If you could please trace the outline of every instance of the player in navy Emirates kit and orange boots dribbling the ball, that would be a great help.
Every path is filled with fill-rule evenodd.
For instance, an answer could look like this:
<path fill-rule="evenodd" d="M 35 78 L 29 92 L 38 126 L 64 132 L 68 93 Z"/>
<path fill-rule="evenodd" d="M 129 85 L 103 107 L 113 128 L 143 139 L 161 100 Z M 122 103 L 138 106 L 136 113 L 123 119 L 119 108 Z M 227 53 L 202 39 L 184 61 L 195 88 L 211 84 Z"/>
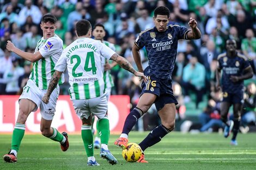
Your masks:
<path fill-rule="evenodd" d="M 169 25 L 170 11 L 166 7 L 157 7 L 154 11 L 155 27 L 141 32 L 132 47 L 133 58 L 139 72 L 147 75 L 147 83 L 142 84 L 142 95 L 135 109 L 126 117 L 122 134 L 114 142 L 121 148 L 126 148 L 128 134 L 137 119 L 148 111 L 150 106 L 155 103 L 158 114 L 161 118 L 161 125 L 153 129 L 144 140 L 139 143 L 144 151 L 150 146 L 161 141 L 161 138 L 170 133 L 175 125 L 175 105 L 178 104 L 172 90 L 172 72 L 174 69 L 176 52 L 179 39 L 199 39 L 200 30 L 197 22 L 190 18 L 188 25 L 192 30 L 178 25 Z M 149 66 L 143 70 L 139 49 L 145 46 Z M 138 162 L 147 162 L 144 154 Z"/>

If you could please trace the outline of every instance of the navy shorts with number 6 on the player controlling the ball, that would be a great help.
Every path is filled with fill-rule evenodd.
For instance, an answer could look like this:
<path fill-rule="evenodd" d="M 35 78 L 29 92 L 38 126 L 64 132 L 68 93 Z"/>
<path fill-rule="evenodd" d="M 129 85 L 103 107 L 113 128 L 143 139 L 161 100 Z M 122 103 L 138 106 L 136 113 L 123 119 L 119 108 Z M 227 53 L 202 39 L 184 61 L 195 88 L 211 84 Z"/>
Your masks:
<path fill-rule="evenodd" d="M 155 77 L 148 77 L 147 83 L 142 83 L 142 93 L 151 93 L 157 96 L 155 105 L 157 111 L 163 108 L 168 103 L 178 104 L 178 101 L 173 95 L 172 80 L 170 79 L 159 79 Z"/>

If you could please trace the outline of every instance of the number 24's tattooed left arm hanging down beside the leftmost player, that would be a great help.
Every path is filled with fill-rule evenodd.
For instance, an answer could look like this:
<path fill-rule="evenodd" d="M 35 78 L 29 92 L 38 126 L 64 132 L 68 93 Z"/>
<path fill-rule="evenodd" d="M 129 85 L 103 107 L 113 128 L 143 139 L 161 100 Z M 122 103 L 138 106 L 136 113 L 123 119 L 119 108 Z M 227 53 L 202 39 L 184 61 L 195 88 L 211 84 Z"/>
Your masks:
<path fill-rule="evenodd" d="M 51 96 L 52 91 L 56 88 L 56 86 L 58 85 L 59 79 L 62 76 L 63 72 L 59 72 L 59 71 L 55 71 L 52 75 L 52 79 L 49 83 L 47 92 L 45 93 L 44 97 L 42 97 L 42 102 L 48 104 L 49 103 L 49 99 Z"/>

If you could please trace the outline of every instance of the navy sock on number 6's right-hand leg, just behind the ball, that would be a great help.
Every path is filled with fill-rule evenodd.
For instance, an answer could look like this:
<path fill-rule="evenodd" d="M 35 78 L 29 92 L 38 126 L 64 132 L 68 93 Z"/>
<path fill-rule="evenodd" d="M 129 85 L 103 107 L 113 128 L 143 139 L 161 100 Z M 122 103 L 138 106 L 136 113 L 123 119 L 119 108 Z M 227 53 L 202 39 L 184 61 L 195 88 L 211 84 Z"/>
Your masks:
<path fill-rule="evenodd" d="M 170 133 L 170 130 L 168 130 L 166 127 L 164 127 L 162 124 L 153 129 L 147 137 L 144 138 L 144 140 L 139 143 L 139 146 L 144 151 L 148 147 L 153 146 L 154 144 L 161 141 L 161 138 L 164 137 L 166 134 Z"/>

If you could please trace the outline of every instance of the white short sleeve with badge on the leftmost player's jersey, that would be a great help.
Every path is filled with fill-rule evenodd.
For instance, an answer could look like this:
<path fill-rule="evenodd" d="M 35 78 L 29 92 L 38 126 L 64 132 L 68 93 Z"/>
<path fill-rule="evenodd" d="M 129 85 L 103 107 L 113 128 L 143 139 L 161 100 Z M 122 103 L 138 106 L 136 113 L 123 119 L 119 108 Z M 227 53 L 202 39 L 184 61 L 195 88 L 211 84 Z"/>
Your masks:
<path fill-rule="evenodd" d="M 45 45 L 39 49 L 39 52 L 44 58 L 47 58 L 57 53 L 60 48 L 62 48 L 60 41 L 51 37 L 46 41 Z"/>

